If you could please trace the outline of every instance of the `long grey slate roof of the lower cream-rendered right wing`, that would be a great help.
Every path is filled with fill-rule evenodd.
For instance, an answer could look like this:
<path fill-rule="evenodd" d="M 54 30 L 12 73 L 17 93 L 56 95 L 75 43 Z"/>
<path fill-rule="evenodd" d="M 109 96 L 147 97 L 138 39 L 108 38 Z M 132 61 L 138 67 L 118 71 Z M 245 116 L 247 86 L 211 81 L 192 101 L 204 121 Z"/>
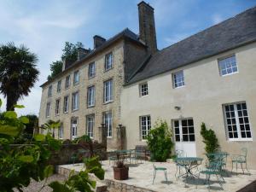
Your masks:
<path fill-rule="evenodd" d="M 183 67 L 256 40 L 256 7 L 161 49 L 126 84 Z"/>

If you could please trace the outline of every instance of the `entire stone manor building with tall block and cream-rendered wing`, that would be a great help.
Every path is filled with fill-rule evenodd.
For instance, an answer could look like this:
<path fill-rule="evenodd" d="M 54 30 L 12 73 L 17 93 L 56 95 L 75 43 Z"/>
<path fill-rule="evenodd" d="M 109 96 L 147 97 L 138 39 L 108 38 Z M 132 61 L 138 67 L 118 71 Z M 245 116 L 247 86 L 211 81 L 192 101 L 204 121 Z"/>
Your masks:
<path fill-rule="evenodd" d="M 224 151 L 247 148 L 256 168 L 256 7 L 161 50 L 154 9 L 138 3 L 138 16 L 139 35 L 95 36 L 94 49 L 80 49 L 77 61 L 42 84 L 40 125 L 60 120 L 57 137 L 95 140 L 103 126 L 108 149 L 135 148 L 164 119 L 175 148 L 202 156 L 204 122 Z"/>

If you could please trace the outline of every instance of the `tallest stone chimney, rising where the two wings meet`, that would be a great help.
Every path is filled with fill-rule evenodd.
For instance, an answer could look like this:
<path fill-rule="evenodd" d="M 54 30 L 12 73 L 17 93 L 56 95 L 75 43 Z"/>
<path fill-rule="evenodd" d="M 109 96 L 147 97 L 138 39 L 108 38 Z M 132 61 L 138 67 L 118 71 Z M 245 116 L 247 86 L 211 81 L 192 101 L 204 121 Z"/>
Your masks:
<path fill-rule="evenodd" d="M 143 1 L 138 3 L 137 6 L 140 29 L 139 37 L 148 46 L 148 51 L 155 53 L 157 51 L 157 44 L 154 26 L 154 8 Z"/>

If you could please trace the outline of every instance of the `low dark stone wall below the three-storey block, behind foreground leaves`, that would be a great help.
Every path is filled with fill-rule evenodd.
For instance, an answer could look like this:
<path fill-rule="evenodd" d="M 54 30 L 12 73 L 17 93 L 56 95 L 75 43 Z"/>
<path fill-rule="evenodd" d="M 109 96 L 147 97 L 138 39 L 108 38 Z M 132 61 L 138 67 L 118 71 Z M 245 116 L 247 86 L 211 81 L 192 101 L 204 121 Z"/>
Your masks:
<path fill-rule="evenodd" d="M 79 150 L 83 149 L 84 153 L 79 154 Z M 72 159 L 78 155 L 78 158 Z M 100 160 L 107 159 L 107 149 L 101 143 L 63 143 L 60 151 L 52 152 L 49 164 L 65 165 L 70 163 L 82 162 L 83 158 L 89 158 L 93 155 L 100 157 Z"/>

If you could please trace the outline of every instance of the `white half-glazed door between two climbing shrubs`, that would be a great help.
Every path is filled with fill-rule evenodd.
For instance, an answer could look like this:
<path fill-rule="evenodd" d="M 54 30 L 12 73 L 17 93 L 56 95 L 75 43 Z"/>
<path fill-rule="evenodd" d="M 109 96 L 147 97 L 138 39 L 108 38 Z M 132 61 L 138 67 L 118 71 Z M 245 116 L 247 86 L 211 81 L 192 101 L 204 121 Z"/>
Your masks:
<path fill-rule="evenodd" d="M 193 119 L 173 120 L 175 148 L 183 150 L 187 157 L 195 157 L 195 130 Z"/>

